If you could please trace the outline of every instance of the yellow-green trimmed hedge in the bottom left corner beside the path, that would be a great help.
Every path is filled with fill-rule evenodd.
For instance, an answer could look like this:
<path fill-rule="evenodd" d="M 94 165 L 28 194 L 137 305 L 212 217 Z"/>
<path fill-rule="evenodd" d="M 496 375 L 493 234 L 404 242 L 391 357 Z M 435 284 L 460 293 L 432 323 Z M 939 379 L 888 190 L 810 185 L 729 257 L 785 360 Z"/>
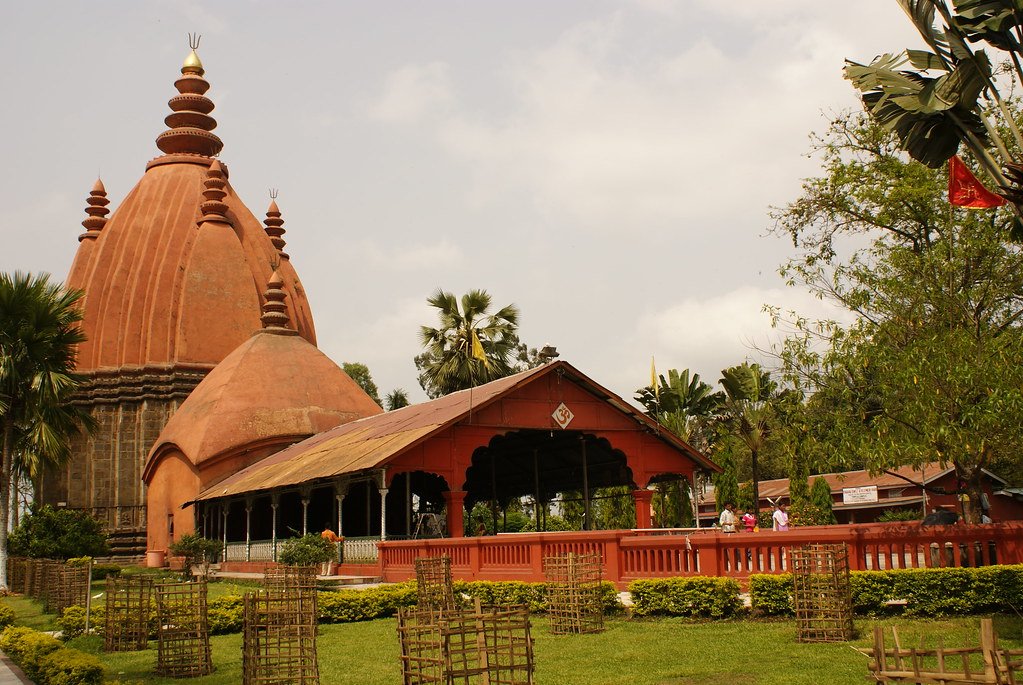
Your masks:
<path fill-rule="evenodd" d="M 61 645 L 55 637 L 31 628 L 6 628 L 0 650 L 37 685 L 101 685 L 103 666 L 92 654 Z"/>

